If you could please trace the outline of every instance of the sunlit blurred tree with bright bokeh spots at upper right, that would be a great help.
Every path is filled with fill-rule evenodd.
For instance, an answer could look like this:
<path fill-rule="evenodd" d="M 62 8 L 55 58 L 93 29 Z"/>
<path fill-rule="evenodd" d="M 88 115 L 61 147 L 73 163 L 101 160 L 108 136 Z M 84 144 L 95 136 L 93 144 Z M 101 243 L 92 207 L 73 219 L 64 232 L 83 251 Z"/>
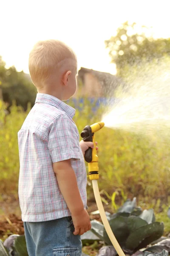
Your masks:
<path fill-rule="evenodd" d="M 123 68 L 127 65 L 170 55 L 170 38 L 154 39 L 151 28 L 138 26 L 136 23 L 129 24 L 128 21 L 105 44 L 119 75 L 122 75 Z"/>

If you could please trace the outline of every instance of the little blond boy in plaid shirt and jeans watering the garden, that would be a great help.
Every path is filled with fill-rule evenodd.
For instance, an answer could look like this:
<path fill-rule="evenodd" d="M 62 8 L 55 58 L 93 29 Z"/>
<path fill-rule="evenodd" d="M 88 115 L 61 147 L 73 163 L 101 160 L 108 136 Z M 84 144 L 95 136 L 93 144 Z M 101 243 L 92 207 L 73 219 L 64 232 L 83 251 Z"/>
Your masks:
<path fill-rule="evenodd" d="M 29 55 L 37 87 L 34 107 L 18 132 L 19 198 L 29 256 L 81 256 L 91 229 L 83 155 L 67 100 L 77 90 L 77 57 L 64 43 L 38 42 Z"/>

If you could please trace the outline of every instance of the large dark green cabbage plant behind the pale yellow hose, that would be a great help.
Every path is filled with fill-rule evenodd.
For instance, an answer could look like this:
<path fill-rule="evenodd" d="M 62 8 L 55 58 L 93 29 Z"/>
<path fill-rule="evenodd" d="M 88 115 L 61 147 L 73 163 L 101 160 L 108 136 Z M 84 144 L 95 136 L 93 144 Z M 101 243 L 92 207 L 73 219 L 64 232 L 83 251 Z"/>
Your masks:
<path fill-rule="evenodd" d="M 113 215 L 108 215 L 111 229 L 125 250 L 135 251 L 159 239 L 164 232 L 163 223 L 155 221 L 153 209 L 144 210 L 136 206 L 136 198 L 127 200 Z M 92 221 L 92 230 L 99 239 L 111 245 L 105 227 L 99 221 Z"/>

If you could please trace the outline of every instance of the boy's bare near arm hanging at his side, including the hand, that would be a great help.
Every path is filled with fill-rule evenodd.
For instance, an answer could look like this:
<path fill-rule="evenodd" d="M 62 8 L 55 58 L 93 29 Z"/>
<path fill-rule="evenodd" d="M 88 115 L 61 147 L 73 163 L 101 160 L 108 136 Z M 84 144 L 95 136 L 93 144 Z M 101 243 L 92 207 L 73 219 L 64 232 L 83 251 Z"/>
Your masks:
<path fill-rule="evenodd" d="M 59 189 L 63 198 L 71 211 L 74 224 L 74 235 L 82 235 L 91 229 L 91 222 L 88 212 L 79 193 L 77 178 L 71 167 L 71 159 L 53 163 L 53 169 L 57 177 Z"/>

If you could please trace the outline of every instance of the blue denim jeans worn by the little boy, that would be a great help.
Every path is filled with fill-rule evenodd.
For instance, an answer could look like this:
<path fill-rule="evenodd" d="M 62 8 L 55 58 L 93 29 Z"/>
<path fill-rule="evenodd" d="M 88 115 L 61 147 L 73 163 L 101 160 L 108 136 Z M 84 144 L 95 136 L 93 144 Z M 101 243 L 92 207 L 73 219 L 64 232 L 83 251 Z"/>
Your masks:
<path fill-rule="evenodd" d="M 29 256 L 81 256 L 82 242 L 75 236 L 71 217 L 24 222 Z"/>

